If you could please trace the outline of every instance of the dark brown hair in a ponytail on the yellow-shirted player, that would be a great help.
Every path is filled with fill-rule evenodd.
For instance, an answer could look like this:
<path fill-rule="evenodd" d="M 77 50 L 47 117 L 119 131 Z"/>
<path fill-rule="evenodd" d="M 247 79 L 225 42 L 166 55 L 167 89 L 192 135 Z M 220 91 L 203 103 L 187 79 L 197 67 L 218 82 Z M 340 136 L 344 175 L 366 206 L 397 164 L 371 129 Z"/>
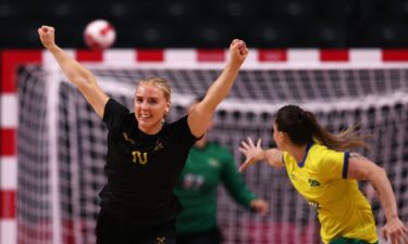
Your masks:
<path fill-rule="evenodd" d="M 277 130 L 286 132 L 290 141 L 297 145 L 307 144 L 314 138 L 323 145 L 336 151 L 367 149 L 364 138 L 359 136 L 360 130 L 357 126 L 350 126 L 339 134 L 333 134 L 320 126 L 312 112 L 304 111 L 296 105 L 281 107 L 275 123 Z"/>

